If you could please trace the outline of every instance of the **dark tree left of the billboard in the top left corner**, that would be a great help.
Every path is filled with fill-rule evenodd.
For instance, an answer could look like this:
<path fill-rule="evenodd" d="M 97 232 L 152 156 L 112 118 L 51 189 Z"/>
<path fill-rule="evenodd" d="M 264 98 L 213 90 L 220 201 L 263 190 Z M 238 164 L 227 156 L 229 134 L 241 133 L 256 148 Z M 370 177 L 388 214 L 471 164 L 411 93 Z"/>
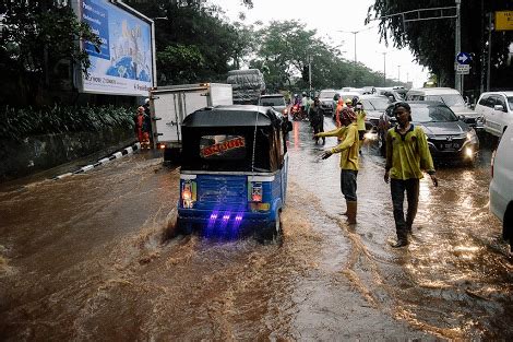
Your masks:
<path fill-rule="evenodd" d="M 53 1 L 4 1 L 0 36 L 0 66 L 7 84 L 2 103 L 40 105 L 62 60 L 90 66 L 87 55 L 77 48 L 79 39 L 99 46 L 90 27 L 77 21 L 70 7 Z"/>

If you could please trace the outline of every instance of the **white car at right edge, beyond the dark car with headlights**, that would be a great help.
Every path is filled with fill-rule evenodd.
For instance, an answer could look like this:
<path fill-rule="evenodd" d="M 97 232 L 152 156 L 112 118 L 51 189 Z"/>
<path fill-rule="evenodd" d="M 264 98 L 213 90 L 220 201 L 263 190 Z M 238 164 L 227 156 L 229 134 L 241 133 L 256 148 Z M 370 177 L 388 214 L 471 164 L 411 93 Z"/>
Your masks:
<path fill-rule="evenodd" d="M 487 132 L 501 137 L 513 123 L 513 91 L 482 93 L 476 113 L 484 117 Z"/>

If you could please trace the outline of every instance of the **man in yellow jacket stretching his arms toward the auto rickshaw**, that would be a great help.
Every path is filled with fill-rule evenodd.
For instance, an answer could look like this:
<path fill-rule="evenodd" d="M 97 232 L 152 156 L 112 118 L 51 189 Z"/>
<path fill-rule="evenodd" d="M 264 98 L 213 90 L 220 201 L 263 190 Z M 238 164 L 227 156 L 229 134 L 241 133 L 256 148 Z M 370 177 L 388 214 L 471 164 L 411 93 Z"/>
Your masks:
<path fill-rule="evenodd" d="M 356 223 L 357 197 L 356 197 L 356 178 L 358 176 L 358 126 L 356 123 L 356 115 L 353 109 L 348 108 L 343 111 L 342 127 L 329 132 L 315 134 L 315 138 L 338 137 L 341 143 L 322 153 L 323 160 L 329 158 L 334 153 L 341 153 L 341 190 L 346 199 L 347 204 L 347 222 Z"/>

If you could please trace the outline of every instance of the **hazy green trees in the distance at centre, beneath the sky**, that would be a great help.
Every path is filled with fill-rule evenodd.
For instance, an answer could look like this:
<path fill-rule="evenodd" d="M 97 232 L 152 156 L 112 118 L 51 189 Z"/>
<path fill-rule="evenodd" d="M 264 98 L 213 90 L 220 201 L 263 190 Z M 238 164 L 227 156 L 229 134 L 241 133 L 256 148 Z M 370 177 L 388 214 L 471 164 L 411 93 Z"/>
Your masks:
<path fill-rule="evenodd" d="M 336 47 L 318 37 L 315 30 L 303 27 L 299 21 L 275 21 L 255 32 L 256 57 L 250 67 L 265 67 L 270 90 L 307 90 L 309 61 L 312 86 L 318 90 L 382 84 L 381 73 L 345 60 Z"/>

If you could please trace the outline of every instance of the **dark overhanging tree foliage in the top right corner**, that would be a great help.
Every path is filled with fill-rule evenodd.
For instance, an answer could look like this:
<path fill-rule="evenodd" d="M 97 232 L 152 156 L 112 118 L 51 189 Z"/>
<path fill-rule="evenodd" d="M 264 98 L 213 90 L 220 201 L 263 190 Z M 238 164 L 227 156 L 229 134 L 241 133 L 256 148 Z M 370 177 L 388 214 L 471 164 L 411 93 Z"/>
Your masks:
<path fill-rule="evenodd" d="M 409 0 L 375 0 L 369 9 L 369 19 L 378 19 L 407 11 L 429 8 L 455 7 L 454 0 L 426 0 L 421 4 Z M 465 78 L 466 89 L 479 89 L 481 71 L 486 70 L 488 42 L 488 13 L 513 10 L 510 0 L 464 0 L 461 7 L 462 51 L 473 55 L 472 73 Z M 417 13 L 414 13 L 417 15 Z M 407 14 L 406 19 L 411 19 Z M 440 14 L 440 11 L 421 12 L 421 17 Z M 455 10 L 444 11 L 454 15 Z M 428 24 L 429 23 L 429 24 Z M 455 20 L 441 19 L 403 23 L 401 15 L 380 20 L 381 38 L 393 40 L 398 48 L 408 47 L 417 61 L 428 67 L 444 85 L 454 85 L 454 37 Z M 513 32 L 492 32 L 491 39 L 491 86 L 511 87 L 513 64 L 510 45 Z"/>

